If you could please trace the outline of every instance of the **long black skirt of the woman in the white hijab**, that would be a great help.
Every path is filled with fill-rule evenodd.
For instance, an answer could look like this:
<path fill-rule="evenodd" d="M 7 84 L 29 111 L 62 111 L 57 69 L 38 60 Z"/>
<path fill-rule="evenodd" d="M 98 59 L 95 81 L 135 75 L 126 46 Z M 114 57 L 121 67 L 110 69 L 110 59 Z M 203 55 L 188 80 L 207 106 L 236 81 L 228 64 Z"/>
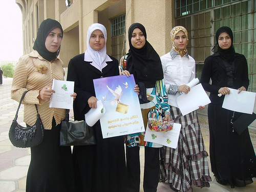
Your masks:
<path fill-rule="evenodd" d="M 77 192 L 123 192 L 126 169 L 123 137 L 102 138 L 99 121 L 93 126 L 96 145 L 74 146 Z"/>

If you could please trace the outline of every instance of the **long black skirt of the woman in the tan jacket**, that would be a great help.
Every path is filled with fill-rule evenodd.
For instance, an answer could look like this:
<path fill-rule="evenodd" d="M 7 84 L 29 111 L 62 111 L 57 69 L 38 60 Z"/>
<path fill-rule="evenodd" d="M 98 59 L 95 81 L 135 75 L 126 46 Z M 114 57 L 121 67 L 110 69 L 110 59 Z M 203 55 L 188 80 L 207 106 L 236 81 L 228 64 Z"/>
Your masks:
<path fill-rule="evenodd" d="M 31 147 L 31 162 L 27 175 L 27 192 L 70 192 L 74 189 L 74 169 L 70 146 L 59 146 L 60 124 L 52 123 L 45 130 L 44 140 Z"/>

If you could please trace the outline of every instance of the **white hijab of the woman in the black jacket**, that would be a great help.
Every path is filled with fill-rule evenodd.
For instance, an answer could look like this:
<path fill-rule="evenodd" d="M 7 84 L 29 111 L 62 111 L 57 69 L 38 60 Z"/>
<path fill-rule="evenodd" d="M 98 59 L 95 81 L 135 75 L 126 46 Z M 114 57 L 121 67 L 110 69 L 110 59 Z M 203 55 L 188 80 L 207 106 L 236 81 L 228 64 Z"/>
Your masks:
<path fill-rule="evenodd" d="M 105 45 L 99 51 L 93 50 L 89 45 L 91 35 L 97 29 L 103 33 L 104 39 L 105 39 Z M 92 61 L 91 65 L 100 71 L 102 71 L 102 69 L 107 65 L 105 61 L 112 61 L 112 59 L 106 54 L 106 28 L 101 24 L 98 24 L 98 23 L 92 24 L 88 28 L 87 50 L 84 53 L 84 61 Z"/>

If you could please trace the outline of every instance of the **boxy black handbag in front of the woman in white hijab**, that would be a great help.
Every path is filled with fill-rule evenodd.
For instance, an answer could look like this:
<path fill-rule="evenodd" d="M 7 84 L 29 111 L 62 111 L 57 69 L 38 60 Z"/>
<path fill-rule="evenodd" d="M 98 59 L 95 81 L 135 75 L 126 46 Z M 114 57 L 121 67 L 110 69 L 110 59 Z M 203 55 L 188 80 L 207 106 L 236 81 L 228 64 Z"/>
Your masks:
<path fill-rule="evenodd" d="M 95 145 L 96 137 L 93 127 L 86 121 L 69 120 L 69 110 L 66 110 L 65 119 L 61 121 L 59 145 Z"/>

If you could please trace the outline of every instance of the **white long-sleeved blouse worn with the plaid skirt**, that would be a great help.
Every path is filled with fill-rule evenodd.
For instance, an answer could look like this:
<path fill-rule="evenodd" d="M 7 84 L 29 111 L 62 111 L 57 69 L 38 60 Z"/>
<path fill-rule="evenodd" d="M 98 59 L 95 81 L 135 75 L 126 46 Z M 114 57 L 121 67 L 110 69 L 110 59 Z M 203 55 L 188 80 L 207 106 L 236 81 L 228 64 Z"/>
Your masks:
<path fill-rule="evenodd" d="M 170 53 L 166 53 L 160 58 L 162 61 L 166 92 L 168 93 L 168 103 L 169 105 L 178 107 L 176 100 L 181 93 L 178 91 L 176 92 L 177 94 L 170 95 L 168 90 L 187 84 L 196 77 L 196 61 L 190 55 L 183 57 L 176 55 L 172 59 Z"/>

